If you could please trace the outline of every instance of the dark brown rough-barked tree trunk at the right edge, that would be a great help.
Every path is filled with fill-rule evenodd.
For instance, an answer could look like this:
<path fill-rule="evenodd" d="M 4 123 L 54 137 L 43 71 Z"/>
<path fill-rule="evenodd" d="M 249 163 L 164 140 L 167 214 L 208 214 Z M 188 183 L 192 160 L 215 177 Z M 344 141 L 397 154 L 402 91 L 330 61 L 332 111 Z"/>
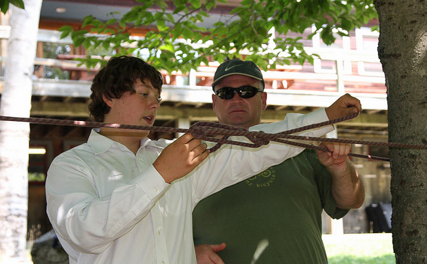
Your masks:
<path fill-rule="evenodd" d="M 374 0 L 390 142 L 427 144 L 427 1 Z M 427 263 L 427 151 L 391 149 L 397 264 Z"/>

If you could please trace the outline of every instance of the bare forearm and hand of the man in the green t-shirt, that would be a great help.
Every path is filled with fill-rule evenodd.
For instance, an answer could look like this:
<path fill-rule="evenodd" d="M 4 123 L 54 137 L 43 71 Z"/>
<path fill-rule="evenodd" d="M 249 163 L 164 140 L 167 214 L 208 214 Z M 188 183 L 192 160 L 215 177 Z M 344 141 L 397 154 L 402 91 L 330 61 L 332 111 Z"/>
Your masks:
<path fill-rule="evenodd" d="M 328 151 L 317 151 L 319 162 L 326 166 L 332 175 L 332 196 L 341 209 L 359 208 L 365 200 L 365 188 L 361 175 L 350 160 L 350 144 L 323 142 Z"/>

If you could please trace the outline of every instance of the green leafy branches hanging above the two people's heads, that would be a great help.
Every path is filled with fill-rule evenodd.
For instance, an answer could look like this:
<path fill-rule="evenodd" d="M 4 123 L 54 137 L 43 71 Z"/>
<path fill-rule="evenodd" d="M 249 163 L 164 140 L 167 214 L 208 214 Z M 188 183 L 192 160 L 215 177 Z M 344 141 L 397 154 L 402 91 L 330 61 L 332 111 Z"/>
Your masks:
<path fill-rule="evenodd" d="M 226 0 L 137 2 L 122 16 L 111 12 L 106 21 L 90 15 L 79 30 L 63 26 L 62 37 L 70 36 L 75 45 L 86 49 L 103 47 L 117 55 L 140 56 L 168 72 L 188 72 L 201 63 L 242 56 L 266 69 L 291 62 L 312 63 L 312 55 L 299 41 L 301 36 L 288 37 L 289 32 L 302 34 L 314 27 L 309 38 L 319 33 L 329 45 L 335 41 L 334 34 L 345 36 L 377 17 L 372 0 L 243 0 L 228 14 L 215 17 L 212 28 L 204 28 L 201 22 L 212 19 L 217 5 Z M 148 31 L 135 38 L 130 34 L 134 28 Z M 83 61 L 88 67 L 104 63 L 96 58 Z"/>

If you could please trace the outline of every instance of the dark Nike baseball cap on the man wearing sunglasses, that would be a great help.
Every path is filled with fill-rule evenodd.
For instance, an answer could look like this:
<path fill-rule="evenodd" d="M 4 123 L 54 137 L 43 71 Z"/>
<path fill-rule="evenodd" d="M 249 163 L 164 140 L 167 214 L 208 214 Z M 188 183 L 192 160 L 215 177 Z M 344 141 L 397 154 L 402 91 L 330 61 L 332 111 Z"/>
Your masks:
<path fill-rule="evenodd" d="M 266 87 L 264 78 L 262 78 L 261 70 L 253 61 L 241 61 L 238 58 L 233 58 L 232 60 L 221 63 L 221 65 L 218 66 L 214 75 L 212 89 L 215 87 L 215 85 L 217 85 L 217 83 L 219 83 L 220 80 L 231 75 L 244 75 L 252 77 L 261 81 L 262 89 Z"/>

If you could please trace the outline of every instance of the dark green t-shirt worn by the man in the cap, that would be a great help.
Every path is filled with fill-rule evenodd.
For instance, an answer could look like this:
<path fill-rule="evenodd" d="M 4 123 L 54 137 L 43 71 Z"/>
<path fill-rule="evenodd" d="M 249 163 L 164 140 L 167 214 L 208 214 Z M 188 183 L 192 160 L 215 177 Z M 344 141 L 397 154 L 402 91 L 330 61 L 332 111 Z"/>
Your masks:
<path fill-rule="evenodd" d="M 331 176 L 315 151 L 272 166 L 200 201 L 193 211 L 195 245 L 225 242 L 226 264 L 327 263 L 321 212 L 336 207 Z"/>

